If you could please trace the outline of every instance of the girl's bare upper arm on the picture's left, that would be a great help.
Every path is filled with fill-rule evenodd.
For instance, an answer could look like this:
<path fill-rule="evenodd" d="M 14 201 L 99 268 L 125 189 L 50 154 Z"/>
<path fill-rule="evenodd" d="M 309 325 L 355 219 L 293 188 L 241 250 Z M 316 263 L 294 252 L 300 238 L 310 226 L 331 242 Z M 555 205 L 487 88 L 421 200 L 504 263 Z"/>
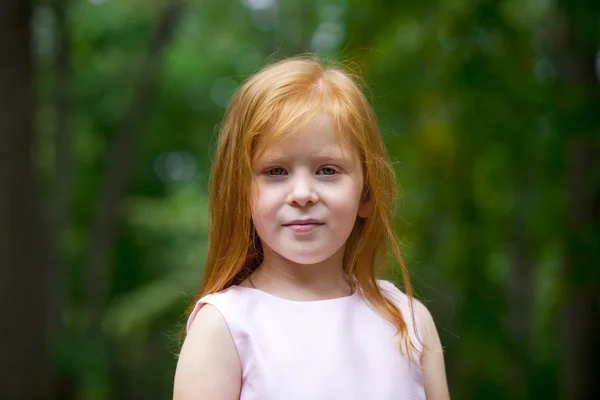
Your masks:
<path fill-rule="evenodd" d="M 174 400 L 238 400 L 241 366 L 221 313 L 204 305 L 190 327 L 175 372 Z"/>

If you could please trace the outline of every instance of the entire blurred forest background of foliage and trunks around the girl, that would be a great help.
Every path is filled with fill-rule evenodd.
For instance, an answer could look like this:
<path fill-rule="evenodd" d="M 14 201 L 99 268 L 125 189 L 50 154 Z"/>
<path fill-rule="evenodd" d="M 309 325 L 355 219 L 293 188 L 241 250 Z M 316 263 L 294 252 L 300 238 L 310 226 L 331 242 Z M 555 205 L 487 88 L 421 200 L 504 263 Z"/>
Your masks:
<path fill-rule="evenodd" d="M 452 397 L 600 398 L 599 21 L 597 0 L 3 1 L 0 398 L 172 396 L 218 125 L 307 52 L 370 90 Z"/>

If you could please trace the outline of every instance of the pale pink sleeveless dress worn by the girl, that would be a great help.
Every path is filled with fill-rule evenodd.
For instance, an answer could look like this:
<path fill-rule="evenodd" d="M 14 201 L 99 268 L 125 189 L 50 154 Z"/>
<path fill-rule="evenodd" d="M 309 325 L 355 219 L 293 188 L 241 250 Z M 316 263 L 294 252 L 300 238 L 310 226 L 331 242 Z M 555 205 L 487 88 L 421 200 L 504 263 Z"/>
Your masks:
<path fill-rule="evenodd" d="M 420 346 L 408 297 L 388 281 L 378 283 Z M 221 312 L 237 348 L 241 400 L 425 399 L 418 354 L 410 362 L 400 352 L 394 325 L 368 306 L 360 290 L 330 300 L 291 301 L 232 286 L 200 299 L 188 329 L 206 303 Z"/>

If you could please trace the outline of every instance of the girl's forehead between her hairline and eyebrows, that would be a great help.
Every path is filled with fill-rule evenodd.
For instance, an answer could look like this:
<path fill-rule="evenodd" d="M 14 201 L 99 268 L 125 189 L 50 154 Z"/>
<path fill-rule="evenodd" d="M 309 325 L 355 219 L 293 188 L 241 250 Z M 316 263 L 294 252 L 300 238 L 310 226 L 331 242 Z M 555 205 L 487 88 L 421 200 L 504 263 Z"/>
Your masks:
<path fill-rule="evenodd" d="M 254 161 L 283 157 L 351 158 L 355 151 L 342 132 L 336 130 L 333 119 L 318 114 L 300 129 L 283 132 L 275 137 L 258 138 Z"/>

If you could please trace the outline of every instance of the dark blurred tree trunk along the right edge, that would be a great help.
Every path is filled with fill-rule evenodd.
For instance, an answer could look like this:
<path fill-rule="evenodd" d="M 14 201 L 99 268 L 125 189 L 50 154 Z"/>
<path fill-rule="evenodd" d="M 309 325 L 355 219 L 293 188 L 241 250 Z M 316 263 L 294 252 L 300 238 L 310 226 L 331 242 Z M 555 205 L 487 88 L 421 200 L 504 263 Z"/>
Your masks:
<path fill-rule="evenodd" d="M 557 98 L 557 109 L 560 119 L 566 122 L 568 193 L 562 270 L 561 397 L 579 400 L 600 396 L 596 382 L 600 368 L 600 85 L 594 71 L 600 3 L 563 1 L 560 10 L 556 63 L 564 92 Z"/>

